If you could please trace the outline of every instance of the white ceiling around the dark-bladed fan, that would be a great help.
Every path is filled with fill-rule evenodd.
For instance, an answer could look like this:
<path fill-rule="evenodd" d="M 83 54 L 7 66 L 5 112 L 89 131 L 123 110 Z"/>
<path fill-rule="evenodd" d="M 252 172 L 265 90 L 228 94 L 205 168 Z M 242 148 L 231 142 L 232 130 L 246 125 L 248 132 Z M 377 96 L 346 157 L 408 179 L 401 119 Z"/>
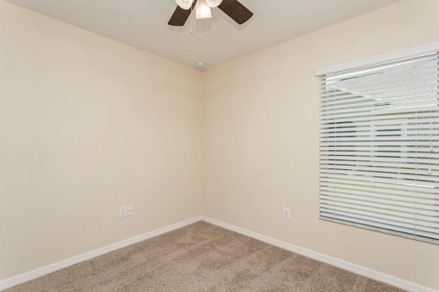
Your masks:
<path fill-rule="evenodd" d="M 169 60 L 206 68 L 401 0 L 239 0 L 254 15 L 238 25 L 219 8 L 212 19 L 167 25 L 174 0 L 6 0 Z"/>

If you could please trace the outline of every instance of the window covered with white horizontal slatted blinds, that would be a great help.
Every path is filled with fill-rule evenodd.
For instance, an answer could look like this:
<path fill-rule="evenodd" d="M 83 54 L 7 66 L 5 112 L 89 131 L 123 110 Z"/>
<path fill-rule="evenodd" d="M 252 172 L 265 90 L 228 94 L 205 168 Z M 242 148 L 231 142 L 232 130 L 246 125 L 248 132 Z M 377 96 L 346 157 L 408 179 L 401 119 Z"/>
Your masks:
<path fill-rule="evenodd" d="M 320 218 L 439 243 L 438 52 L 368 63 L 318 74 Z"/>

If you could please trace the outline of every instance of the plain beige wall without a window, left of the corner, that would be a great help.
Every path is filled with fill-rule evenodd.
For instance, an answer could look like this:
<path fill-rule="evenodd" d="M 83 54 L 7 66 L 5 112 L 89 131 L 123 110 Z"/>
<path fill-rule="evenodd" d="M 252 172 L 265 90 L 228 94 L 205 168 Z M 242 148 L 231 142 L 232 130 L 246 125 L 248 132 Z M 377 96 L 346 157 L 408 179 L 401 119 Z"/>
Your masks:
<path fill-rule="evenodd" d="M 0 1 L 0 280 L 200 215 L 200 80 Z"/>

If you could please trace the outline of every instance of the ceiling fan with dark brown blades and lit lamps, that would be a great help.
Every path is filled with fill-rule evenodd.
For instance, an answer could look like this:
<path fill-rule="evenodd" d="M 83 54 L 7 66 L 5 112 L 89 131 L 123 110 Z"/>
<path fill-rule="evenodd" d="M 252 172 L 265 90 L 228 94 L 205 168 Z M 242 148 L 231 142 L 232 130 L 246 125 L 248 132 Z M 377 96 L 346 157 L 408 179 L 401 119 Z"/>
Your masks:
<path fill-rule="evenodd" d="M 167 24 L 173 26 L 185 25 L 191 11 L 195 11 L 196 19 L 210 19 L 211 8 L 219 8 L 239 25 L 252 17 L 253 13 L 237 0 L 175 0 L 177 8 Z"/>

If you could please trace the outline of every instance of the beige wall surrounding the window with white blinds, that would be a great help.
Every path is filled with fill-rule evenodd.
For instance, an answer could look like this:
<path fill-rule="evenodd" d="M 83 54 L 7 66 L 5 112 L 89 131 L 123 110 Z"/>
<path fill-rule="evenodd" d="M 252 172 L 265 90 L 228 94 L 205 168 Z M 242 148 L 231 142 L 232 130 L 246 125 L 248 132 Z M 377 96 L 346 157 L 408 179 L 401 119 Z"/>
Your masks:
<path fill-rule="evenodd" d="M 206 71 L 203 214 L 439 290 L 439 245 L 318 219 L 314 76 L 439 40 L 438 15 L 437 0 L 402 1 Z"/>

